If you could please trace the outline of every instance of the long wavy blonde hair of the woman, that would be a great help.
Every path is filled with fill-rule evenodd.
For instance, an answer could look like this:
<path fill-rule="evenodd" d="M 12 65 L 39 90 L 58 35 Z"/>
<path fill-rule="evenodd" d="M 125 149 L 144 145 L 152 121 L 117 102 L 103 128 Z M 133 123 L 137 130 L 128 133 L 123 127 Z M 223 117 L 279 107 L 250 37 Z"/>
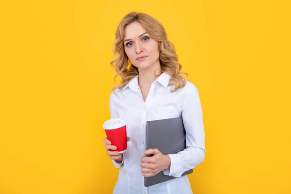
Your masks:
<path fill-rule="evenodd" d="M 154 40 L 158 41 L 160 50 L 159 59 L 162 70 L 161 72 L 169 74 L 171 76 L 169 84 L 175 85 L 171 92 L 175 92 L 176 90 L 184 87 L 186 85 L 187 79 L 180 74 L 186 74 L 186 76 L 188 76 L 188 74 L 180 72 L 182 66 L 178 63 L 178 55 L 176 54 L 174 45 L 168 40 L 167 34 L 162 24 L 154 17 L 145 13 L 130 12 L 124 16 L 124 18 L 119 23 L 115 32 L 115 41 L 112 45 L 112 47 L 115 45 L 114 51 L 112 49 L 113 53 L 117 53 L 116 59 L 110 62 L 110 64 L 117 72 L 117 74 L 114 76 L 114 81 L 118 75 L 122 79 L 118 85 L 113 87 L 113 91 L 115 89 L 123 88 L 132 78 L 138 75 L 138 69 L 136 66 L 130 63 L 123 45 L 124 28 L 134 21 L 140 22 L 145 28 L 146 32 L 148 32 Z"/>

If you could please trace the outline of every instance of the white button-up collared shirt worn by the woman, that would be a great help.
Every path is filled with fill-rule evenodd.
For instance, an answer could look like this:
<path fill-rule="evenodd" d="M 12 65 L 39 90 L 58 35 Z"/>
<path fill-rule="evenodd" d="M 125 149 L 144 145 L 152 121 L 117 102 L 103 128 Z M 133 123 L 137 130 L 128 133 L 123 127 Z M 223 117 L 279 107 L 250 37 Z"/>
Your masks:
<path fill-rule="evenodd" d="M 152 84 L 144 102 L 138 75 L 122 89 L 116 89 L 110 96 L 111 118 L 121 117 L 127 125 L 130 137 L 128 149 L 123 153 L 123 162 L 113 162 L 120 167 L 113 194 L 193 194 L 187 176 L 183 172 L 203 162 L 205 156 L 205 134 L 202 108 L 198 90 L 187 81 L 186 86 L 171 93 L 174 85 L 168 85 L 171 76 L 162 73 Z M 178 154 L 169 154 L 170 169 L 165 175 L 174 176 L 172 180 L 153 186 L 144 186 L 141 170 L 141 157 L 145 151 L 146 121 L 182 116 L 186 130 L 186 149 Z"/>

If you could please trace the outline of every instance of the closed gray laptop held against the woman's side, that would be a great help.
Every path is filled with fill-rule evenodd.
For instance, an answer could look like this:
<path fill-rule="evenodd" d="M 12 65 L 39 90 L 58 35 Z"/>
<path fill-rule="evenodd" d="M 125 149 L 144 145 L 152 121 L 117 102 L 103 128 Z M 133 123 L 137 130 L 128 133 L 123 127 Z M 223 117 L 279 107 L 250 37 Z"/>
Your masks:
<path fill-rule="evenodd" d="M 177 154 L 186 148 L 186 131 L 184 129 L 182 117 L 154 120 L 146 122 L 146 150 L 157 148 L 162 154 Z M 146 155 L 151 157 L 152 155 Z M 190 169 L 182 176 L 193 173 Z M 175 177 L 164 175 L 161 171 L 157 175 L 145 178 L 145 186 L 155 185 Z"/>

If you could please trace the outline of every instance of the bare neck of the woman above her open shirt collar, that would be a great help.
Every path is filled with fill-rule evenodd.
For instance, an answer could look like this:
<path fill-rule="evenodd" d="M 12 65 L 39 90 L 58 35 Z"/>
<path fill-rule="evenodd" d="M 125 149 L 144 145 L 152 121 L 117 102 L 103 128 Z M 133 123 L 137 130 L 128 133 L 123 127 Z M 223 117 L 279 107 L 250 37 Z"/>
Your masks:
<path fill-rule="evenodd" d="M 161 65 L 157 63 L 156 65 L 151 65 L 147 69 L 138 70 L 138 85 L 140 88 L 149 88 L 153 81 L 155 81 L 161 74 Z"/>

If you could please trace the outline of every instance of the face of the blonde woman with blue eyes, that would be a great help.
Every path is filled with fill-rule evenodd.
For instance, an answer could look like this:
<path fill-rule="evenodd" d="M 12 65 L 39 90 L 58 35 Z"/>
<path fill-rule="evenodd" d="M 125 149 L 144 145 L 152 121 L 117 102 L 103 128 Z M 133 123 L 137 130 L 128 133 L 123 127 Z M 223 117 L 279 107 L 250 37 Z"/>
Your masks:
<path fill-rule="evenodd" d="M 149 36 L 140 22 L 125 27 L 124 49 L 131 64 L 139 70 L 160 68 L 158 41 Z"/>

